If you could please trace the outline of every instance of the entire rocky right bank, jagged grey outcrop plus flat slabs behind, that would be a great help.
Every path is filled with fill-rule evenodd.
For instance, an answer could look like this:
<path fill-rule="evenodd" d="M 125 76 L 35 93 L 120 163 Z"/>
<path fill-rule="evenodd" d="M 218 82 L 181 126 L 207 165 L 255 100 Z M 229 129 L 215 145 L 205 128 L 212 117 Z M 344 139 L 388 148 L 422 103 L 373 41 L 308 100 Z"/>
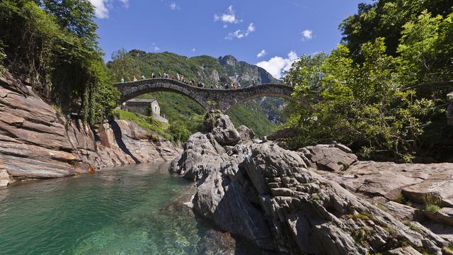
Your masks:
<path fill-rule="evenodd" d="M 277 254 L 452 254 L 453 164 L 357 162 L 343 145 L 298 152 L 205 118 L 171 171 L 195 181 L 190 207 Z"/>

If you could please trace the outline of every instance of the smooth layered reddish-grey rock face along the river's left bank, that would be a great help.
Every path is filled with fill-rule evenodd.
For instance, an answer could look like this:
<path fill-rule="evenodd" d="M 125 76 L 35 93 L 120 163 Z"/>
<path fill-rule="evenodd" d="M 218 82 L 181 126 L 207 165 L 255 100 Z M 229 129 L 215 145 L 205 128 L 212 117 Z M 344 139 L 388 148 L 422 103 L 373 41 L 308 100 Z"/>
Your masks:
<path fill-rule="evenodd" d="M 93 133 L 80 120 L 63 118 L 9 74 L 0 77 L 0 186 L 103 166 L 168 160 L 179 153 L 171 142 L 121 120 L 105 123 Z"/>

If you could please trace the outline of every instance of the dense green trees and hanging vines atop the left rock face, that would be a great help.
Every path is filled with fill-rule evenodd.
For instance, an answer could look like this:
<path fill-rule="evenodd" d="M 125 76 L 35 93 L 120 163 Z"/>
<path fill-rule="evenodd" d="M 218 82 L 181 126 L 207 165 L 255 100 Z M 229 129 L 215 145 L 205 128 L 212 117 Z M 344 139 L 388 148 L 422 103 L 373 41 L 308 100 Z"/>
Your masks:
<path fill-rule="evenodd" d="M 110 112 L 118 94 L 103 67 L 88 0 L 5 0 L 0 16 L 5 64 L 14 76 L 86 122 Z"/>

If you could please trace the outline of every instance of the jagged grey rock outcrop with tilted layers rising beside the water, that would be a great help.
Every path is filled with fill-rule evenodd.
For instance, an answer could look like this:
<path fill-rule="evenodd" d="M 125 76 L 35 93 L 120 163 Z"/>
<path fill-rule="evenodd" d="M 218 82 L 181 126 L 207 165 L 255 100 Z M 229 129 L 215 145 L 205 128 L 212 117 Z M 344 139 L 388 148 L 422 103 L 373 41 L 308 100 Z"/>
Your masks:
<path fill-rule="evenodd" d="M 171 171 L 196 182 L 193 211 L 219 229 L 278 254 L 449 252 L 446 237 L 326 178 L 360 167 L 348 147 L 291 152 L 253 141 L 243 131 L 238 139 L 228 122 L 220 113 L 207 115 L 206 132 L 192 135 L 171 165 Z M 442 210 L 447 217 L 449 210 Z"/>

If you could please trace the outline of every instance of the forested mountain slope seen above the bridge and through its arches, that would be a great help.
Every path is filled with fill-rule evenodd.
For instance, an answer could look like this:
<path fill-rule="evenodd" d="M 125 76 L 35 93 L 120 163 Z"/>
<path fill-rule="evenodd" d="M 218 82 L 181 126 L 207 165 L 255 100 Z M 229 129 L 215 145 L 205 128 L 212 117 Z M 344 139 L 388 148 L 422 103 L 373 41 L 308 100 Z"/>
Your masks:
<path fill-rule="evenodd" d="M 216 59 L 206 55 L 184 57 L 171 52 L 147 53 L 141 50 L 130 52 L 119 50 L 115 52 L 113 60 L 108 62 L 107 66 L 117 81 L 121 78 L 126 81 L 133 77 L 139 79 L 142 75 L 149 78 L 153 73 L 159 77 L 159 73 L 167 73 L 170 77 L 176 77 L 179 74 L 188 81 L 202 81 L 207 87 L 211 84 L 223 86 L 231 82 L 240 83 L 245 87 L 250 86 L 252 80 L 257 84 L 281 82 L 264 69 L 246 62 L 238 62 L 232 56 Z M 170 92 L 159 92 L 142 97 L 156 98 L 161 104 L 162 113 L 169 118 L 170 123 L 176 122 L 187 126 L 190 132 L 195 131 L 197 124 L 194 124 L 194 121 L 200 120 L 198 117 L 203 111 L 195 101 Z M 246 125 L 258 136 L 269 135 L 276 126 L 270 120 L 277 122 L 282 103 L 284 101 L 279 98 L 249 101 L 232 108 L 228 114 L 234 125 Z"/>

